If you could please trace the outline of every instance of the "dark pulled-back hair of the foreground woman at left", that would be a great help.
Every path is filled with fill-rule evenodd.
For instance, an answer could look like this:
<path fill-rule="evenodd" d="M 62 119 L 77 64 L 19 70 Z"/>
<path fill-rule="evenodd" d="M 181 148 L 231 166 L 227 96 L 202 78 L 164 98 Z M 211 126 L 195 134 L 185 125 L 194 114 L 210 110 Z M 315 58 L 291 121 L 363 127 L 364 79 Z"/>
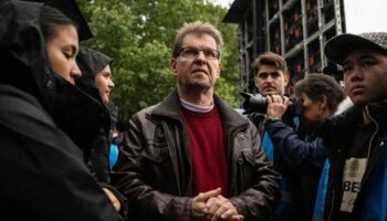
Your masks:
<path fill-rule="evenodd" d="M 40 25 L 45 41 L 54 38 L 57 34 L 57 27 L 63 24 L 71 24 L 77 29 L 76 23 L 64 15 L 60 10 L 50 6 L 42 7 Z"/>

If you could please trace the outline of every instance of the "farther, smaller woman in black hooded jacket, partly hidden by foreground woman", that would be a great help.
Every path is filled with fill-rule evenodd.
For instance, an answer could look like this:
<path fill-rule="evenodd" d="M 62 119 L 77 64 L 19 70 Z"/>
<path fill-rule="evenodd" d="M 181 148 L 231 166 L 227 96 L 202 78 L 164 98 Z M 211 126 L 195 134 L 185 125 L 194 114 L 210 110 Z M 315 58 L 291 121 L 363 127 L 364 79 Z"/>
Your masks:
<path fill-rule="evenodd" d="M 113 59 L 98 51 L 81 48 L 76 56 L 76 62 L 81 69 L 82 77 L 75 83 L 83 91 L 94 98 L 101 101 L 109 110 L 111 125 L 108 128 L 101 128 L 98 135 L 92 144 L 92 152 L 86 159 L 87 166 L 101 182 L 101 185 L 112 193 L 117 211 L 126 213 L 125 198 L 113 186 L 109 179 L 109 149 L 113 131 L 116 128 L 117 107 L 109 102 L 109 95 L 114 88 L 111 64 Z M 107 130 L 106 130 L 107 129 Z M 117 150 L 115 151 L 117 152 Z M 123 209 L 123 210 L 121 210 Z"/>

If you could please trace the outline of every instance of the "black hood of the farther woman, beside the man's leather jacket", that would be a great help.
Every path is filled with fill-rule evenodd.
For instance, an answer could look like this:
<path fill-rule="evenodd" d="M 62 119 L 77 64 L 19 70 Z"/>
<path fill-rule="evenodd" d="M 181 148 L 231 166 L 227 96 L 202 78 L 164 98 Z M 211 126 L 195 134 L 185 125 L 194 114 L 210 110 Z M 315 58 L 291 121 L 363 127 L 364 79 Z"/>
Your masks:
<path fill-rule="evenodd" d="M 100 96 L 94 82 L 95 76 L 112 62 L 113 59 L 106 54 L 92 49 L 81 48 L 80 53 L 76 56 L 76 63 L 82 72 L 82 77 L 75 81 L 76 85 L 93 97 Z"/>

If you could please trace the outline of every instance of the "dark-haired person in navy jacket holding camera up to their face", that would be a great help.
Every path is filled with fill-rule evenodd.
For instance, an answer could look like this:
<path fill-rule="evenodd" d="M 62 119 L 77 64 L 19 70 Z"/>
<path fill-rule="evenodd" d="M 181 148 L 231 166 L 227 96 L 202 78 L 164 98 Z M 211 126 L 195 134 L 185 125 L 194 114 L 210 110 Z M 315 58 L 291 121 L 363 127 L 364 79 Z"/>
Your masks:
<path fill-rule="evenodd" d="M 318 207 L 324 201 L 326 186 L 326 177 L 323 176 L 322 180 L 320 178 L 324 166 L 328 167 L 327 162 L 325 165 L 323 140 L 316 131 L 321 124 L 337 110 L 345 93 L 333 77 L 313 73 L 295 85 L 295 95 L 300 118 L 297 130 L 281 120 L 291 105 L 289 98 L 282 96 L 268 98 L 265 129 L 273 143 L 281 171 L 286 172 L 292 181 L 299 185 L 297 199 L 304 215 L 301 220 L 316 220 L 321 214 L 318 210 L 314 212 L 314 206 L 316 202 Z M 320 198 L 316 201 L 317 189 Z"/>

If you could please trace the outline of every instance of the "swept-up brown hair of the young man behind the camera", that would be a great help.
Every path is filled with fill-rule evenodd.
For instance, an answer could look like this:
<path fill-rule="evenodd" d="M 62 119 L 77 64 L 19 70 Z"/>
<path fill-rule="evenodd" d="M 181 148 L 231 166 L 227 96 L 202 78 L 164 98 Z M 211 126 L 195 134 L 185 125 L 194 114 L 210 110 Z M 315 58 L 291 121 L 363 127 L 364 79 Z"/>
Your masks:
<path fill-rule="evenodd" d="M 287 74 L 286 62 L 280 54 L 275 54 L 273 52 L 264 52 L 260 54 L 251 64 L 251 66 L 255 69 L 257 73 L 262 65 L 274 66 L 275 70 L 282 71 L 283 74 Z"/>

